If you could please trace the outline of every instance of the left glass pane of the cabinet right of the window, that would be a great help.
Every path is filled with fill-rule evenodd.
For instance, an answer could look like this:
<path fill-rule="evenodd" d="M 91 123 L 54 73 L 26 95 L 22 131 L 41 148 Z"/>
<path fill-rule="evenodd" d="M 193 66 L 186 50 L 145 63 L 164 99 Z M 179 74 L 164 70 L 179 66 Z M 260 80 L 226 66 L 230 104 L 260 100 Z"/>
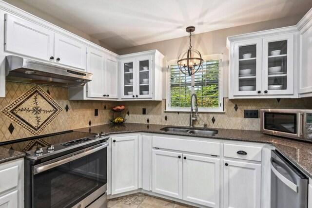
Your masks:
<path fill-rule="evenodd" d="M 239 91 L 256 89 L 256 44 L 239 46 L 238 83 Z"/>

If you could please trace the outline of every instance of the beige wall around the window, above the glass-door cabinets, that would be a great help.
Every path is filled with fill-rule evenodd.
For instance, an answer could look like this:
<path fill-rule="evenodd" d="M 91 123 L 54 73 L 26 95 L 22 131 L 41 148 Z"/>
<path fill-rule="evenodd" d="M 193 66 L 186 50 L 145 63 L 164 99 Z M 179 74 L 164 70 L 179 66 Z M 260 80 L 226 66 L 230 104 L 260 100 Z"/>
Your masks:
<path fill-rule="evenodd" d="M 212 55 L 223 53 L 223 96 L 228 97 L 228 64 L 229 64 L 229 53 L 226 48 L 226 38 L 229 36 L 240 35 L 245 33 L 252 33 L 262 30 L 269 30 L 279 27 L 292 26 L 302 17 L 291 17 L 283 19 L 273 19 L 264 22 L 258 22 L 248 25 L 242 25 L 238 27 L 231 27 L 222 30 L 216 30 L 207 33 L 196 34 L 192 36 L 193 49 L 198 50 L 202 55 Z M 185 34 L 187 35 L 187 34 Z M 117 54 L 129 54 L 140 51 L 154 50 L 157 49 L 160 53 L 165 56 L 166 60 L 177 59 L 182 51 L 187 50 L 189 47 L 189 37 L 169 39 L 145 45 L 135 46 L 131 48 L 125 48 L 117 50 Z M 165 63 L 165 62 L 164 62 Z M 164 64 L 166 66 L 166 64 Z M 165 70 L 164 70 L 165 71 Z M 163 79 L 164 91 L 163 98 L 165 98 L 166 90 L 166 79 Z"/>

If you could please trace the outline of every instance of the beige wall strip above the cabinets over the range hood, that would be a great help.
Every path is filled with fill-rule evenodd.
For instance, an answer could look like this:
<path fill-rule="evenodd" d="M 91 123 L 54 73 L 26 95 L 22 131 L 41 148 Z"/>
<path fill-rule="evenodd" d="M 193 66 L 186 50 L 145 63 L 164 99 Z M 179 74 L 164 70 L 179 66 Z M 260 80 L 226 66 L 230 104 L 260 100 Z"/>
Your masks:
<path fill-rule="evenodd" d="M 52 24 L 55 24 L 55 25 L 59 26 L 60 28 L 63 28 L 63 29 L 65 29 L 65 30 L 67 30 L 67 31 L 69 31 L 71 33 L 74 33 L 74 34 L 80 36 L 81 38 L 85 38 L 85 39 L 87 39 L 87 40 L 89 40 L 89 41 L 91 41 L 91 42 L 93 42 L 93 43 L 95 43 L 97 45 L 100 45 L 103 48 L 106 48 L 106 49 L 108 49 L 108 50 L 110 50 L 110 51 L 112 51 L 114 53 L 117 52 L 116 49 L 107 46 L 106 44 L 104 44 L 103 42 L 99 41 L 98 39 L 92 38 L 88 34 L 86 34 L 86 33 L 82 32 L 82 31 L 72 27 L 71 25 L 63 22 L 62 20 L 56 19 L 56 18 L 54 18 L 54 17 L 52 17 L 52 16 L 50 16 L 50 15 L 44 13 L 44 12 L 41 12 L 40 10 L 38 10 L 38 9 L 28 5 L 28 4 L 26 4 L 25 2 L 23 2 L 21 0 L 3 0 L 3 1 L 5 1 L 5 2 L 7 2 L 9 4 L 12 4 L 13 6 L 16 6 L 16 7 L 20 8 L 20 9 L 22 9 L 22 10 L 24 10 L 24 11 L 26 11 L 26 12 L 32 14 L 32 15 L 35 15 L 35 16 L 41 18 L 41 19 L 44 19 L 44 20 L 46 20 L 46 21 L 48 21 L 48 22 L 50 22 Z"/>

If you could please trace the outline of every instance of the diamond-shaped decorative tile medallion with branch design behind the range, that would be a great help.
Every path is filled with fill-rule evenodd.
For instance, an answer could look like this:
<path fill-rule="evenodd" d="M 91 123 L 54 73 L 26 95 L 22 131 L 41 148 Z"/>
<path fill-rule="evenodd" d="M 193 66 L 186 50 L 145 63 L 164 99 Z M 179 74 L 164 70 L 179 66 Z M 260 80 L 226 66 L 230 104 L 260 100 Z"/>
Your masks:
<path fill-rule="evenodd" d="M 8 118 L 35 135 L 42 132 L 61 111 L 59 104 L 38 85 L 1 109 Z"/>

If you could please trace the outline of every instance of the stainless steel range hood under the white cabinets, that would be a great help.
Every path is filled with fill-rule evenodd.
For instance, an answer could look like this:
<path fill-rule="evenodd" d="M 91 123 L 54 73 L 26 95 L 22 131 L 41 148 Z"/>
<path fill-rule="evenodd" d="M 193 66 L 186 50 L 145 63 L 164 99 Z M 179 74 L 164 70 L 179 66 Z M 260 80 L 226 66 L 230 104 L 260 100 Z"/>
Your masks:
<path fill-rule="evenodd" d="M 92 74 L 18 56 L 6 57 L 6 80 L 62 87 L 83 86 Z"/>

